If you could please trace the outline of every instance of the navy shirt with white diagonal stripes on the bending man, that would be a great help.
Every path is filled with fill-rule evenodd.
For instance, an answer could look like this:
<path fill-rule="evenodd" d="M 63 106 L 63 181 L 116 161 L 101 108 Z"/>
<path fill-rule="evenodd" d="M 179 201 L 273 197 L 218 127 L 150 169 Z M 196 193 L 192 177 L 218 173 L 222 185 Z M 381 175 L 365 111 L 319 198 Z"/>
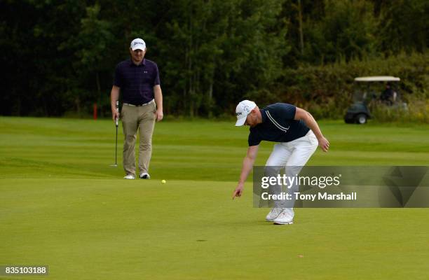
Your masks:
<path fill-rule="evenodd" d="M 297 107 L 275 103 L 261 109 L 262 123 L 250 127 L 249 146 L 261 141 L 290 142 L 304 137 L 310 130 L 303 120 L 294 120 Z"/>

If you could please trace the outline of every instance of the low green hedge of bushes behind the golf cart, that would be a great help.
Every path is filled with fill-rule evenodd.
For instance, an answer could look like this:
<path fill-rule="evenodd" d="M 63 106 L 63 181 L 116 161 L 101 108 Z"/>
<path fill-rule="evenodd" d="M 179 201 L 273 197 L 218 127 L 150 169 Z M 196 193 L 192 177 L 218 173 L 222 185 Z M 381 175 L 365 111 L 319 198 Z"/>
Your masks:
<path fill-rule="evenodd" d="M 359 76 L 400 77 L 399 91 L 409 112 L 400 114 L 408 120 L 427 122 L 429 99 L 429 55 L 402 53 L 395 57 L 373 57 L 365 60 L 337 62 L 325 66 L 299 66 L 286 69 L 278 80 L 273 93 L 260 97 L 264 103 L 289 102 L 311 111 L 317 118 L 343 118 L 353 102 L 353 80 Z M 383 86 L 379 86 L 383 88 Z M 380 92 L 378 92 L 380 93 Z M 269 97 L 269 98 L 267 98 Z M 379 114 L 377 114 L 379 116 Z M 389 120 L 389 118 L 380 118 Z"/>

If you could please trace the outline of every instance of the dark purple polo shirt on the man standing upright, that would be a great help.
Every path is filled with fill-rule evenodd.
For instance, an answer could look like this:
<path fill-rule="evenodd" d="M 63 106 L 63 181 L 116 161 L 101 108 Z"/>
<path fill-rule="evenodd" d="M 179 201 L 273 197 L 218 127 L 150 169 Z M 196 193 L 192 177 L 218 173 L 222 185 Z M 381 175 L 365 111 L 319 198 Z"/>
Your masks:
<path fill-rule="evenodd" d="M 135 65 L 127 59 L 116 65 L 114 85 L 121 88 L 123 103 L 140 105 L 154 99 L 154 86 L 159 85 L 158 66 L 149 59 Z"/>

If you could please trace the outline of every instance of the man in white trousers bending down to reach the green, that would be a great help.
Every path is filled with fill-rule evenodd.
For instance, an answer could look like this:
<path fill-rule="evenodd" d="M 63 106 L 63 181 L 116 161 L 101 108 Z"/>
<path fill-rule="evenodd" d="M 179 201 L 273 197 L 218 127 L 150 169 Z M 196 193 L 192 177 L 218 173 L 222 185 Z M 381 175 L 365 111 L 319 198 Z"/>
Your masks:
<path fill-rule="evenodd" d="M 296 176 L 318 146 L 323 151 L 328 151 L 329 141 L 323 137 L 313 116 L 294 105 L 275 103 L 259 109 L 254 102 L 244 100 L 238 104 L 236 116 L 236 126 L 249 125 L 250 134 L 249 148 L 233 198 L 240 197 L 243 193 L 244 183 L 252 171 L 261 141 L 278 142 L 266 162 L 266 173 L 269 176 L 277 176 L 282 167 L 286 167 L 286 176 Z M 297 192 L 298 188 L 295 184 L 289 191 Z M 280 186 L 274 186 L 275 193 L 280 191 Z M 266 221 L 280 225 L 293 223 L 294 210 L 290 202 L 275 200 L 274 205 L 266 216 Z"/>

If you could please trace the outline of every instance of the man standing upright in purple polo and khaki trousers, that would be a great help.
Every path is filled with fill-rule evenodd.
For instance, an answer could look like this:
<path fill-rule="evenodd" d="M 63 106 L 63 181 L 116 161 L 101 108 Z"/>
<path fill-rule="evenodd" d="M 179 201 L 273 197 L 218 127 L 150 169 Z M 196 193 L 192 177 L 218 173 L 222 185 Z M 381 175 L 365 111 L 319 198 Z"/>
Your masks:
<path fill-rule="evenodd" d="M 152 155 L 152 134 L 155 121 L 163 119 L 163 94 L 158 66 L 145 59 L 146 43 L 141 38 L 132 40 L 131 59 L 116 66 L 114 85 L 111 88 L 111 113 L 114 121 L 119 118 L 116 100 L 123 95 L 121 120 L 123 125 L 124 179 L 135 179 L 134 146 L 139 131 L 139 178 L 150 179 L 149 162 Z"/>

